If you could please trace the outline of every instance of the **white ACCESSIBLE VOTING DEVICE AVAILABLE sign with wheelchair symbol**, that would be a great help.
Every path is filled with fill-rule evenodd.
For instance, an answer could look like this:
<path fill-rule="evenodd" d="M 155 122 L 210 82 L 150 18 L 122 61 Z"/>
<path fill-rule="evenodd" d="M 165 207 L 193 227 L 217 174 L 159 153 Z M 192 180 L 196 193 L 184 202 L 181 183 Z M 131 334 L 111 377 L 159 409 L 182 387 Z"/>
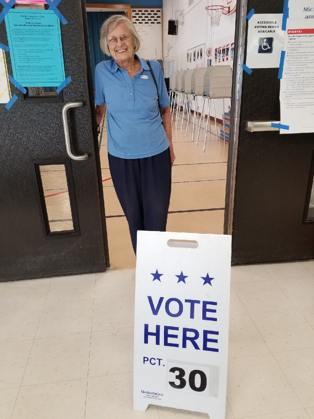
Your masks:
<path fill-rule="evenodd" d="M 279 67 L 283 49 L 282 14 L 254 14 L 247 32 L 247 60 L 250 68 Z"/>

